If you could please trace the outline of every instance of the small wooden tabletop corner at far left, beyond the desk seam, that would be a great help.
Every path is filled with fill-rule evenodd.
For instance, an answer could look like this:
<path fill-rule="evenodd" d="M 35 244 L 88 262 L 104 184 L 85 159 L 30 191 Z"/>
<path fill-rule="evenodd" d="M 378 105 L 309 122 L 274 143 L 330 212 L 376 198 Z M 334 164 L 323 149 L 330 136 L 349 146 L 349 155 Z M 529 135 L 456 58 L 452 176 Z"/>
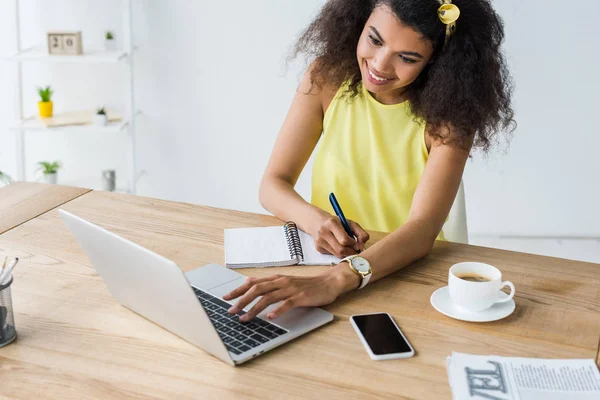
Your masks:
<path fill-rule="evenodd" d="M 0 189 L 0 234 L 89 191 L 30 182 L 5 186 Z"/>

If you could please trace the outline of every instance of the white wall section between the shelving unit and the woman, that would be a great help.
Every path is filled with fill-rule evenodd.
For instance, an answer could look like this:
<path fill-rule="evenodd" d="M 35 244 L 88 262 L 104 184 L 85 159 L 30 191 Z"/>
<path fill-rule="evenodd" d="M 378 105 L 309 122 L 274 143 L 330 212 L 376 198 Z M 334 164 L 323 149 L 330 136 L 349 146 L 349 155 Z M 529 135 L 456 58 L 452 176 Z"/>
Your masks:
<path fill-rule="evenodd" d="M 178 1 L 138 7 L 140 107 L 160 129 L 165 171 L 149 176 L 162 175 L 160 184 L 169 191 L 161 194 L 264 212 L 260 178 L 300 77 L 293 65 L 286 70 L 286 52 L 321 4 Z M 306 179 L 301 186 L 306 193 Z"/>

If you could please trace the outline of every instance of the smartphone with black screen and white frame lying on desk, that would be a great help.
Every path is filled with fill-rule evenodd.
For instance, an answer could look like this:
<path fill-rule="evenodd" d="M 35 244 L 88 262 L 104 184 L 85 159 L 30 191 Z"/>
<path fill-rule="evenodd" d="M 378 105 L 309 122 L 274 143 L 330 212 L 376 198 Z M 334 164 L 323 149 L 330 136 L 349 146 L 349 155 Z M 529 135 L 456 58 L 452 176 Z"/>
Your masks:
<path fill-rule="evenodd" d="M 388 313 L 353 315 L 350 323 L 373 360 L 415 355 L 415 350 Z"/>

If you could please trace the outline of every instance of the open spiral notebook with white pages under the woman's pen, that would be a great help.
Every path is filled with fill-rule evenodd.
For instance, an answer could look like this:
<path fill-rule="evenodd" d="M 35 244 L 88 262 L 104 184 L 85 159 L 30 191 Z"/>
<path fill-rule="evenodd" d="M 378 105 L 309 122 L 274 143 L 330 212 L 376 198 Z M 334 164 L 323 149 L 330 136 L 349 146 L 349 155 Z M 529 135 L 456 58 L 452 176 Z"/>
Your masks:
<path fill-rule="evenodd" d="M 317 251 L 312 237 L 288 222 L 283 226 L 225 229 L 229 268 L 332 265 L 340 259 Z"/>

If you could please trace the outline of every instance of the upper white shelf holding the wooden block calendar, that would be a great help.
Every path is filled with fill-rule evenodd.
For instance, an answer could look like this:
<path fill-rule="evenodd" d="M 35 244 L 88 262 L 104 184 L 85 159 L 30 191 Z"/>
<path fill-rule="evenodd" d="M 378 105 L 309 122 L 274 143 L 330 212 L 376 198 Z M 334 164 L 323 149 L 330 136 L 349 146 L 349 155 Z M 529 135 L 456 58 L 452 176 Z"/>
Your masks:
<path fill-rule="evenodd" d="M 118 63 L 128 57 L 129 53 L 125 50 L 93 50 L 87 51 L 81 55 L 51 55 L 48 51 L 39 47 L 30 47 L 21 50 L 17 54 L 6 57 L 8 61 L 15 62 L 50 62 L 50 63 L 79 63 L 79 64 L 97 64 L 97 63 Z"/>

